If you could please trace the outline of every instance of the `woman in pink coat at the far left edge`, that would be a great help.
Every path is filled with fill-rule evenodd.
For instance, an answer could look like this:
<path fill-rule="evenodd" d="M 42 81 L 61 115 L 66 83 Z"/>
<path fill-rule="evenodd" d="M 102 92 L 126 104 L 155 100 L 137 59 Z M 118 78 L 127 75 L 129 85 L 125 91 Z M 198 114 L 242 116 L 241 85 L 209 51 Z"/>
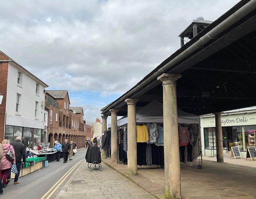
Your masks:
<path fill-rule="evenodd" d="M 3 187 L 6 187 L 6 179 L 8 176 L 9 170 L 12 168 L 12 164 L 15 164 L 15 151 L 11 144 L 9 144 L 8 140 L 4 139 L 2 141 L 3 145 L 3 158 L 1 161 L 1 173 L 0 173 L 0 179 L 2 179 Z M 10 162 L 8 159 L 6 159 L 6 153 L 11 149 L 12 153 L 14 154 L 14 160 Z"/>

